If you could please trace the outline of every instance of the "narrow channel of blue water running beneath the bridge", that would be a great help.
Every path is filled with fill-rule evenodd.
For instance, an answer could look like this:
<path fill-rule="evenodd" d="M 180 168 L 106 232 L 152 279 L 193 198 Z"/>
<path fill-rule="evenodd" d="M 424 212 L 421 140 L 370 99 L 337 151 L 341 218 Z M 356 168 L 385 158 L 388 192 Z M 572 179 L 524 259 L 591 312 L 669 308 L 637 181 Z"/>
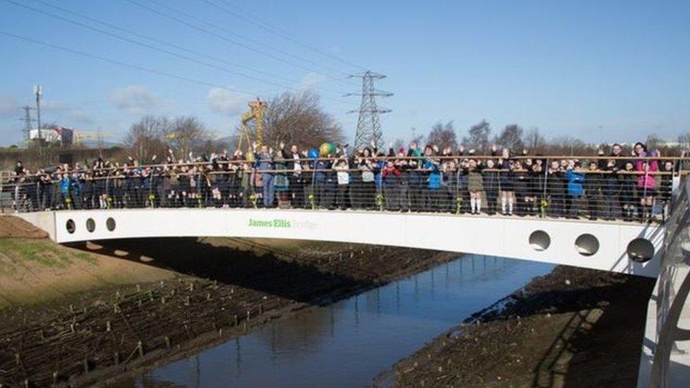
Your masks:
<path fill-rule="evenodd" d="M 467 256 L 333 305 L 272 322 L 165 365 L 132 384 L 158 387 L 352 387 L 498 298 L 549 264 Z"/>

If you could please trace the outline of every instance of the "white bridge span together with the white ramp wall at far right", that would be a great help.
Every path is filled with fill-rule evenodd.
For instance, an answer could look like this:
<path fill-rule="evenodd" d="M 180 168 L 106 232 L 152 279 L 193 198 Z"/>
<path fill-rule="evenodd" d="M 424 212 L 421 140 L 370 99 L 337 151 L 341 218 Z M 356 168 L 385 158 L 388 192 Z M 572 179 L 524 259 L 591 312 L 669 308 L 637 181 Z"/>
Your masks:
<path fill-rule="evenodd" d="M 664 225 L 447 213 L 254 208 L 42 211 L 17 216 L 58 243 L 147 237 L 269 237 L 438 249 L 657 278 L 639 387 L 690 385 L 688 180 Z M 142 240 L 145 243 L 145 240 Z"/>

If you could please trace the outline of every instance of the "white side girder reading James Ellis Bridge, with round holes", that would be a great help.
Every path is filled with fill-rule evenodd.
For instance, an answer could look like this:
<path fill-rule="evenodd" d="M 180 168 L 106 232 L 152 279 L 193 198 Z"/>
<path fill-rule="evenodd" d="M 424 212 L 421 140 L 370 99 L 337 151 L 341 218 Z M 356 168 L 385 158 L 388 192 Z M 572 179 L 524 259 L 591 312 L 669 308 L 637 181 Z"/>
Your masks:
<path fill-rule="evenodd" d="M 18 216 L 55 242 L 145 237 L 267 237 L 485 254 L 656 277 L 664 227 L 438 213 L 279 209 L 118 209 Z"/>

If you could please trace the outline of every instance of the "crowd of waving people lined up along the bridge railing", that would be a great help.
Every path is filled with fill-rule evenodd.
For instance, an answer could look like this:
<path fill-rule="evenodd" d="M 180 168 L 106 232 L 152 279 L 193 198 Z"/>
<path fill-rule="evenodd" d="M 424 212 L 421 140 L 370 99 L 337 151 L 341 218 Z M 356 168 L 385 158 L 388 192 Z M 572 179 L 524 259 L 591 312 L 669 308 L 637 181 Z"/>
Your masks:
<path fill-rule="evenodd" d="M 313 151 L 313 150 L 312 150 Z M 283 207 L 449 212 L 652 221 L 665 217 L 679 166 L 636 143 L 597 157 L 545 158 L 507 148 L 477 155 L 428 144 L 384 152 L 374 143 L 313 155 L 296 145 L 193 153 L 178 160 L 59 165 L 32 172 L 17 162 L 18 211 L 142 207 Z"/>

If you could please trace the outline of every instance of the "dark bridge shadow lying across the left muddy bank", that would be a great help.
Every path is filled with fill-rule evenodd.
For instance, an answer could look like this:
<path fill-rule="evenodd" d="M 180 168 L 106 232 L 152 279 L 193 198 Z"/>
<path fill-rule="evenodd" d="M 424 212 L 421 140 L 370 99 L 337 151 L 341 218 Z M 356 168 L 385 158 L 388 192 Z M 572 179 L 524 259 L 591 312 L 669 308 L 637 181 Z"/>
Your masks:
<path fill-rule="evenodd" d="M 346 295 L 375 286 L 366 276 L 329 271 L 327 266 L 320 265 L 320 259 L 303 257 L 291 249 L 260 242 L 235 242 L 237 245 L 229 246 L 196 237 L 166 237 L 99 240 L 68 246 L 310 304 L 321 304 L 320 297 L 335 291 Z"/>

